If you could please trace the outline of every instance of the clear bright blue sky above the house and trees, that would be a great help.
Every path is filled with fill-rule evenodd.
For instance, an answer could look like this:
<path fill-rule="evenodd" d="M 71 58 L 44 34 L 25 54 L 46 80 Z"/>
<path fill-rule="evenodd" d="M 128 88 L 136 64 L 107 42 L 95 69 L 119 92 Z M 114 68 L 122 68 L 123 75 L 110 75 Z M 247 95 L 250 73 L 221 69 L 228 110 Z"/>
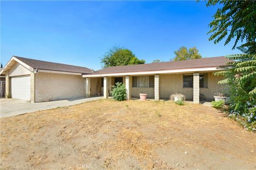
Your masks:
<path fill-rule="evenodd" d="M 220 6 L 200 1 L 1 1 L 1 63 L 12 56 L 101 69 L 117 45 L 139 58 L 170 61 L 181 46 L 203 57 L 237 54 L 209 41 Z"/>

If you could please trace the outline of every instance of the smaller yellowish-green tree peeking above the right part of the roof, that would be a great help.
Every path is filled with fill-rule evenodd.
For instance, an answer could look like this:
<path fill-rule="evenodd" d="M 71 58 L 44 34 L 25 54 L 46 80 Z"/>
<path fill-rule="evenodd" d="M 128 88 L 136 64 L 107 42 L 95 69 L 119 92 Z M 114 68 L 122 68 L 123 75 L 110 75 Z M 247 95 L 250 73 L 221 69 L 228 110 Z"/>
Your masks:
<path fill-rule="evenodd" d="M 187 49 L 187 47 L 182 46 L 177 51 L 174 51 L 174 54 L 176 55 L 174 61 L 202 58 L 196 47 Z"/>

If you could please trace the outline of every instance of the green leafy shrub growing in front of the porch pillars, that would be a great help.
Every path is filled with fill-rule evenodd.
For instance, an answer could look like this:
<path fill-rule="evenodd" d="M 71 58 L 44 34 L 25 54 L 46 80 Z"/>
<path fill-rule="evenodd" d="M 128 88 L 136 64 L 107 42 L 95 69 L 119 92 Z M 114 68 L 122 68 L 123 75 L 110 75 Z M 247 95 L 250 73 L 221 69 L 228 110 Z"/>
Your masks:
<path fill-rule="evenodd" d="M 115 100 L 123 101 L 126 99 L 125 84 L 117 82 L 116 86 L 112 87 L 113 90 L 111 91 L 111 94 Z"/>

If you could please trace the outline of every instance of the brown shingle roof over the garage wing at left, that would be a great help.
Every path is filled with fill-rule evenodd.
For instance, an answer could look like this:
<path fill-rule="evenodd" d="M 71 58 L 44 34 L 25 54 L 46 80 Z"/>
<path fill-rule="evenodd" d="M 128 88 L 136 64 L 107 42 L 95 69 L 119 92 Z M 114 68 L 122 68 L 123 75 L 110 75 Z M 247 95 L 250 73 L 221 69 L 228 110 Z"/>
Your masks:
<path fill-rule="evenodd" d="M 92 74 L 92 71 L 86 67 L 80 67 L 75 65 L 52 63 L 41 60 L 34 60 L 30 58 L 17 57 L 20 61 L 28 64 L 34 69 L 42 70 L 51 70 L 51 71 L 63 71 L 63 72 L 72 72 L 72 73 L 83 73 L 83 74 Z"/>

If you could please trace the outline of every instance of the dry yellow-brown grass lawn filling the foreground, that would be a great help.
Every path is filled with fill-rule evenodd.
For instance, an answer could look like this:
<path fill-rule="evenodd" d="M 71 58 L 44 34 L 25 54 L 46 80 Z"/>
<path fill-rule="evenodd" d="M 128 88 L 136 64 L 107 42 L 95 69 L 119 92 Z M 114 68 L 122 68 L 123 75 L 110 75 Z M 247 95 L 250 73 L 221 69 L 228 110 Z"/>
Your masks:
<path fill-rule="evenodd" d="M 98 100 L 1 118 L 1 169 L 255 169 L 256 134 L 217 109 Z"/>

